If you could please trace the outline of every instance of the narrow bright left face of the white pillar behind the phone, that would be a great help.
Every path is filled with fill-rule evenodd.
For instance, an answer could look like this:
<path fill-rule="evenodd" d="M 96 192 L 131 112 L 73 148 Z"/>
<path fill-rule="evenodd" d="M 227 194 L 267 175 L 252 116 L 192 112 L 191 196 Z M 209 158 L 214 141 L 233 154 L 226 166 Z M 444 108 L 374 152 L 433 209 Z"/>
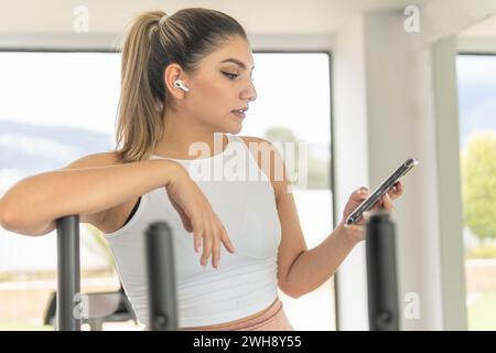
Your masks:
<path fill-rule="evenodd" d="M 353 190 L 369 185 L 364 19 L 355 17 L 336 35 L 333 49 L 333 136 L 335 218 Z M 365 244 L 341 266 L 337 282 L 339 329 L 368 330 Z"/>

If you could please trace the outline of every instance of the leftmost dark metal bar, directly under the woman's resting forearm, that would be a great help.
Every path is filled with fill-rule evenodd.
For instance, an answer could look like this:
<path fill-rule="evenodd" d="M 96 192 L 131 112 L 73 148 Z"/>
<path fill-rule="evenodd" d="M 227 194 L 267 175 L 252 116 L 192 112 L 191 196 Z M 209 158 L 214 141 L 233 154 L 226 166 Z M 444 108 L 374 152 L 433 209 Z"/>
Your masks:
<path fill-rule="evenodd" d="M 57 330 L 80 331 L 79 216 L 57 220 Z"/>

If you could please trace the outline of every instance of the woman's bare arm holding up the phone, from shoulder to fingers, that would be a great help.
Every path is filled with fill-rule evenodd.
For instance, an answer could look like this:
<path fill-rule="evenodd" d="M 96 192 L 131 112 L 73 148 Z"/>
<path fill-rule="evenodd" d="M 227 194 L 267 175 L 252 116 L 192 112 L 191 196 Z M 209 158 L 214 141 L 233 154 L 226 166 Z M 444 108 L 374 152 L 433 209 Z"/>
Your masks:
<path fill-rule="evenodd" d="M 259 138 L 244 138 L 250 142 L 258 142 L 259 150 L 274 147 Z M 266 154 L 267 156 L 267 154 Z M 281 243 L 278 254 L 278 281 L 279 288 L 292 298 L 299 298 L 311 292 L 327 281 L 341 266 L 353 247 L 364 239 L 365 221 L 362 218 L 357 224 L 345 226 L 344 220 L 368 196 L 368 190 L 360 188 L 352 193 L 343 212 L 343 218 L 338 226 L 317 246 L 306 248 L 306 243 L 301 229 L 293 194 L 289 191 L 289 180 L 285 165 L 281 156 L 270 153 L 270 170 L 265 170 L 270 175 L 270 181 L 277 195 L 277 207 L 281 223 Z M 258 160 L 259 161 L 259 160 Z M 259 165 L 263 168 L 262 164 Z M 282 180 L 278 180 L 277 168 L 282 168 Z M 280 178 L 279 178 L 280 179 Z M 393 191 L 381 199 L 374 207 L 392 211 L 392 200 L 403 193 L 403 186 L 398 183 Z"/>

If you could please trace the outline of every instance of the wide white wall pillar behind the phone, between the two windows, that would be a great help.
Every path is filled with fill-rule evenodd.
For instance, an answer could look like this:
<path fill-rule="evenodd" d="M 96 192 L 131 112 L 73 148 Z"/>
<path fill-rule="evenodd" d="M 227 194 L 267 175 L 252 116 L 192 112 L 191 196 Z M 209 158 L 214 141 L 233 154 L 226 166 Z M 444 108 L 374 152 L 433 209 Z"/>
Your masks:
<path fill-rule="evenodd" d="M 364 182 L 375 189 L 400 162 L 419 159 L 393 213 L 400 313 L 409 293 L 420 299 L 419 318 L 401 314 L 400 328 L 465 329 L 460 172 L 454 158 L 459 136 L 453 128 L 456 53 L 441 53 L 445 44 L 407 33 L 403 21 L 402 12 L 373 13 L 337 32 L 333 53 L 338 208 L 352 189 Z M 449 175 L 453 178 L 445 182 Z M 357 249 L 339 270 L 343 330 L 367 327 L 357 319 L 363 318 L 367 298 L 363 253 Z"/>

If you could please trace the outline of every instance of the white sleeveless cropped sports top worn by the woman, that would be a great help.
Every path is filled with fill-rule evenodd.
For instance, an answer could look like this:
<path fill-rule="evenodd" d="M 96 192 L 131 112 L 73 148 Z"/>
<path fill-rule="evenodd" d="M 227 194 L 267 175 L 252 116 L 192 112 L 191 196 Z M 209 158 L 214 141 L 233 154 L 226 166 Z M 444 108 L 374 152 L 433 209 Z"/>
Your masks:
<path fill-rule="evenodd" d="M 230 254 L 220 244 L 219 269 L 213 268 L 212 256 L 205 268 L 200 264 L 203 249 L 195 253 L 193 233 L 184 229 L 164 188 L 142 195 L 130 221 L 104 234 L 123 289 L 143 324 L 149 324 L 144 232 L 155 221 L 165 221 L 173 232 L 180 328 L 239 320 L 266 309 L 278 297 L 281 225 L 273 188 L 245 141 L 226 136 L 229 142 L 222 153 L 205 159 L 170 159 L 188 170 L 236 247 Z M 150 159 L 169 158 L 151 154 Z M 226 170 L 230 172 L 223 172 Z M 218 178 L 208 180 L 205 171 Z"/>

